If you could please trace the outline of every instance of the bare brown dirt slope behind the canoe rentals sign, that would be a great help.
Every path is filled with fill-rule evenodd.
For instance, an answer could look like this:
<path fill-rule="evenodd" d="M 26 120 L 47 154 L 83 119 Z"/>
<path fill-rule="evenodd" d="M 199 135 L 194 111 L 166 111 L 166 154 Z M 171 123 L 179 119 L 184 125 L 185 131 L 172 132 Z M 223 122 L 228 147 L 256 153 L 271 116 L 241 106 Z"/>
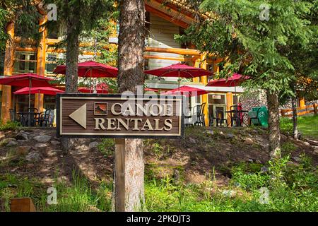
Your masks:
<path fill-rule="evenodd" d="M 28 140 L 8 147 L 2 143 L 0 148 L 0 174 L 11 173 L 21 177 L 36 178 L 48 186 L 54 179 L 71 181 L 73 170 L 79 170 L 98 186 L 102 180 L 112 179 L 113 157 L 105 157 L 96 147 L 90 147 L 100 139 L 77 139 L 69 154 L 61 151 L 60 140 L 54 129 L 28 129 Z M 15 138 L 19 131 L 1 132 L 0 142 Z M 201 183 L 207 177 L 215 177 L 219 186 L 227 184 L 230 178 L 228 169 L 238 162 L 254 162 L 265 165 L 269 160 L 267 131 L 251 128 L 212 128 L 187 129 L 185 138 L 177 140 L 148 139 L 144 141 L 146 176 L 183 177 L 187 183 Z M 50 136 L 45 145 L 38 146 L 35 136 Z M 281 143 L 293 143 L 290 160 L 297 164 L 298 157 L 305 155 L 318 165 L 318 155 L 314 147 L 303 141 L 282 136 Z M 7 164 L 4 160 L 12 150 L 30 147 L 26 153 L 13 158 Z M 28 148 L 26 148 L 28 149 Z M 25 155 L 40 153 L 40 160 L 30 162 Z"/>

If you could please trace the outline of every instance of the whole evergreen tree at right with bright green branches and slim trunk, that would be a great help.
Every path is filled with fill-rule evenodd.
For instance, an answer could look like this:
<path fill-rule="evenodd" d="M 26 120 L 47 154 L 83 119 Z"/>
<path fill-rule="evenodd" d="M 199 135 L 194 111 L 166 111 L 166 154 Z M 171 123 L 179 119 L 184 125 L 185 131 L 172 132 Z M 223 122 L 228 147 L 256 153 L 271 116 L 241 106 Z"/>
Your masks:
<path fill-rule="evenodd" d="M 245 73 L 252 77 L 245 83 L 247 89 L 266 90 L 272 158 L 281 156 L 278 95 L 291 95 L 290 71 L 294 70 L 281 48 L 290 40 L 308 44 L 310 30 L 302 16 L 311 6 L 307 1 L 204 0 L 200 8 L 208 11 L 211 19 L 192 25 L 179 37 L 227 59 L 223 76 Z"/>

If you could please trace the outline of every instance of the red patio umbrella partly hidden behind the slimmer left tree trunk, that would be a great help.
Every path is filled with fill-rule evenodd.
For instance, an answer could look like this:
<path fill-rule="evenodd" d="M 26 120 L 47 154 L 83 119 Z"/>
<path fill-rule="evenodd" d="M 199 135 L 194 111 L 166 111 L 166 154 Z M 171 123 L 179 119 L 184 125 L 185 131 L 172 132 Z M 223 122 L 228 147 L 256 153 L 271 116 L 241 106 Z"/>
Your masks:
<path fill-rule="evenodd" d="M 54 69 L 53 73 L 66 74 L 66 66 L 59 65 Z M 96 61 L 85 61 L 78 63 L 78 76 L 89 77 L 90 87 L 92 86 L 92 78 L 116 78 L 118 69 Z"/>

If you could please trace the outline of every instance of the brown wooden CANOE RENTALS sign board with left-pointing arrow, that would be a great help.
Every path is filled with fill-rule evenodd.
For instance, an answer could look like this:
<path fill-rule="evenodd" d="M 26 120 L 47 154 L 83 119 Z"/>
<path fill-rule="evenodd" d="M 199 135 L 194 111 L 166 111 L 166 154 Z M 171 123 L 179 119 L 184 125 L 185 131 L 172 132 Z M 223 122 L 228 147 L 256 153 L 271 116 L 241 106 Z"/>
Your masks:
<path fill-rule="evenodd" d="M 57 95 L 59 137 L 177 138 L 183 133 L 181 96 Z"/>

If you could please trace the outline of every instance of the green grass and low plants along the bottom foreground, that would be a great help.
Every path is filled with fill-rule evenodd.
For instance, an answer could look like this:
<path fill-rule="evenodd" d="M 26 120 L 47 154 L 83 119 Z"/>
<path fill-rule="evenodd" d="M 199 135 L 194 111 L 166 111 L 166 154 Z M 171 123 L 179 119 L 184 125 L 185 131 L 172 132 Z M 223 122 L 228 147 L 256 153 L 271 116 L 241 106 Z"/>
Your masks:
<path fill-rule="evenodd" d="M 176 183 L 148 174 L 145 182 L 147 211 L 317 211 L 318 177 L 310 158 L 302 155 L 299 165 L 290 165 L 289 157 L 269 162 L 269 172 L 259 166 L 240 163 L 231 169 L 226 187 L 216 186 L 209 175 L 202 184 Z M 73 172 L 71 184 L 57 180 L 57 205 L 47 205 L 47 187 L 36 180 L 4 174 L 0 176 L 2 208 L 9 210 L 13 197 L 31 197 L 39 211 L 110 211 L 112 183 L 100 183 L 92 189 L 87 179 Z M 264 193 L 268 189 L 268 196 Z M 263 190 L 262 190 L 263 189 Z M 234 196 L 226 196 L 231 191 Z M 261 200 L 267 198 L 266 203 Z M 1 202 L 0 202 L 1 203 Z"/>

